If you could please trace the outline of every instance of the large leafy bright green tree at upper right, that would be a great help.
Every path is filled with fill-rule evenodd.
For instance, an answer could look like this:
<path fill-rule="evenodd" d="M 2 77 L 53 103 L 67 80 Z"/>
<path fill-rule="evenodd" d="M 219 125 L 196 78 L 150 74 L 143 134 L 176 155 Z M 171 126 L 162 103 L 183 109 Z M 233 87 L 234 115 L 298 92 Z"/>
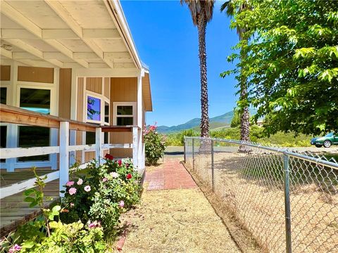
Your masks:
<path fill-rule="evenodd" d="M 241 1 L 239 1 L 241 2 Z M 242 1 L 244 2 L 244 1 Z M 338 130 L 338 2 L 251 0 L 231 27 L 246 29 L 228 60 L 246 79 L 265 133 Z M 247 41 L 247 43 L 245 42 Z M 245 53 L 245 58 L 242 57 Z"/>

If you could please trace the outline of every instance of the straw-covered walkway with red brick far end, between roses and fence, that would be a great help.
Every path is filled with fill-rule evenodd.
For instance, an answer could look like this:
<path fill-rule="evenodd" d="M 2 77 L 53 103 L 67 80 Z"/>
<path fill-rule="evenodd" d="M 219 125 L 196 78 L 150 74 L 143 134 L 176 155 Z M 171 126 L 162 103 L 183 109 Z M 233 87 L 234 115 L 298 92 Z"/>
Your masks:
<path fill-rule="evenodd" d="M 179 159 L 148 170 L 141 204 L 122 217 L 123 252 L 240 252 Z"/>

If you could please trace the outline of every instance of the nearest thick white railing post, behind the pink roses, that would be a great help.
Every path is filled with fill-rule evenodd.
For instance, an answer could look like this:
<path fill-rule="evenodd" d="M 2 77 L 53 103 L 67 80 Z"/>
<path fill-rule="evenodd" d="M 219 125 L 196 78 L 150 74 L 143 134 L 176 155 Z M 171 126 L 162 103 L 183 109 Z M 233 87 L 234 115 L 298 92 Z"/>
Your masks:
<path fill-rule="evenodd" d="M 59 189 L 65 190 L 63 186 L 69 180 L 69 122 L 60 122 L 60 180 Z M 63 197 L 64 193 L 60 193 Z"/>

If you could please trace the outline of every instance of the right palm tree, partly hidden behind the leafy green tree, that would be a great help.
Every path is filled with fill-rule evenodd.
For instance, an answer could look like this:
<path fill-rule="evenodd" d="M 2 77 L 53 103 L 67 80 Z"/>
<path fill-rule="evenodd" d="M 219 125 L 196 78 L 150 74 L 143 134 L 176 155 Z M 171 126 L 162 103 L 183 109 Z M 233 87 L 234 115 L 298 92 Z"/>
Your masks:
<path fill-rule="evenodd" d="M 236 2 L 234 0 L 229 0 L 226 1 L 222 6 L 220 6 L 220 11 L 225 11 L 227 13 L 228 17 L 234 16 L 236 13 L 240 13 L 244 11 L 245 9 L 249 8 L 249 6 L 246 4 L 246 1 L 243 1 L 242 4 L 239 4 L 237 6 Z M 239 37 L 239 41 L 242 41 L 243 34 L 245 30 L 244 28 L 240 28 L 237 26 L 237 34 Z M 241 58 L 244 58 L 245 55 L 243 52 L 240 53 Z M 239 81 L 239 89 L 240 89 L 240 94 L 239 94 L 239 100 L 246 100 L 248 96 L 248 91 L 246 87 L 246 79 L 241 79 Z M 249 121 L 249 107 L 247 105 L 244 106 L 241 110 L 241 141 L 250 141 L 250 121 Z"/>

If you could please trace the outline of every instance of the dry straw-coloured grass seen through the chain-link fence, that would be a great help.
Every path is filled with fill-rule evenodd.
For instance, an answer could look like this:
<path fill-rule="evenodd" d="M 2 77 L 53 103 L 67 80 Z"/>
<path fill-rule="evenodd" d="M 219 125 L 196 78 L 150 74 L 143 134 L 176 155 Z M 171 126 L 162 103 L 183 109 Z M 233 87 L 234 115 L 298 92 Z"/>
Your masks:
<path fill-rule="evenodd" d="M 238 153 L 215 155 L 215 194 L 265 250 L 284 252 L 283 186 L 271 179 L 244 179 L 239 173 L 242 167 L 246 167 L 245 173 L 253 175 L 257 168 L 252 165 L 264 167 L 264 164 L 259 157 L 243 156 Z M 277 157 L 269 159 L 277 161 Z M 196 158 L 194 172 L 195 179 L 199 177 L 210 189 L 208 155 Z M 337 193 L 328 194 L 315 183 L 309 183 L 292 188 L 290 198 L 293 252 L 338 252 Z"/>

